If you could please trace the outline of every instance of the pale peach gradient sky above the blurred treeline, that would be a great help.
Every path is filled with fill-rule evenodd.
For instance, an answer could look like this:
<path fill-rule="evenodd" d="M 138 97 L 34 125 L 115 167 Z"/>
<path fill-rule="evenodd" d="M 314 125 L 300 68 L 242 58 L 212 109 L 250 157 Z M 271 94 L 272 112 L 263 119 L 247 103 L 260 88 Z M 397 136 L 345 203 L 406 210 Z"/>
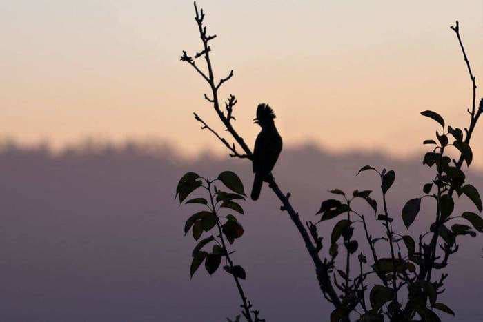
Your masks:
<path fill-rule="evenodd" d="M 440 112 L 462 126 L 471 84 L 455 34 L 483 78 L 483 1 L 199 1 L 223 94 L 239 99 L 248 142 L 257 103 L 273 105 L 286 144 L 331 150 L 422 148 Z M 0 0 L 0 134 L 53 145 L 166 139 L 221 149 L 194 121 L 219 125 L 202 79 L 179 61 L 200 44 L 192 1 Z M 200 60 L 199 63 L 202 63 Z M 482 92 L 479 92 L 481 97 Z M 189 142 L 186 136 L 190 137 Z M 483 165 L 483 128 L 475 159 Z"/>

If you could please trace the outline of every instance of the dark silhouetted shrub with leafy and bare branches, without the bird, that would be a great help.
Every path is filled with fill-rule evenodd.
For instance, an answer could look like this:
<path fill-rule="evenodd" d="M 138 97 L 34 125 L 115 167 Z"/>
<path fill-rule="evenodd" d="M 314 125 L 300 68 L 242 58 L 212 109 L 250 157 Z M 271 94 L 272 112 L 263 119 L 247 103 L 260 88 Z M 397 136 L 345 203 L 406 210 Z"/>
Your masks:
<path fill-rule="evenodd" d="M 221 110 L 218 90 L 223 83 L 233 77 L 233 70 L 227 77 L 215 81 L 212 62 L 210 60 L 209 41 L 216 35 L 208 35 L 204 25 L 204 11 L 198 10 L 195 3 L 196 17 L 199 36 L 203 48 L 193 57 L 188 56 L 186 51 L 181 56 L 181 61 L 188 63 L 208 83 L 211 97 L 205 94 L 205 99 L 213 104 L 221 123 L 226 127 L 235 143 L 228 143 L 213 128 L 211 128 L 198 114 L 195 119 L 202 124 L 202 129 L 212 132 L 221 143 L 230 150 L 231 157 L 239 157 L 253 161 L 253 153 L 233 127 L 233 108 L 237 103 L 235 96 L 230 95 L 225 103 L 225 110 Z M 266 177 L 266 181 L 273 192 L 282 202 L 281 210 L 288 215 L 297 228 L 300 237 L 306 245 L 309 256 L 315 265 L 317 283 L 326 301 L 334 306 L 331 313 L 331 322 L 337 321 L 440 321 L 438 314 L 452 314 L 455 312 L 449 305 L 438 301 L 438 296 L 445 291 L 444 281 L 448 278 L 447 273 L 439 274 L 449 263 L 451 255 L 458 251 L 457 241 L 466 237 L 475 237 L 476 232 L 483 232 L 483 219 L 480 217 L 482 201 L 477 189 L 470 183 L 466 183 L 464 165 L 466 168 L 473 161 L 471 150 L 471 136 L 477 125 L 477 121 L 483 112 L 483 99 L 476 105 L 476 83 L 471 70 L 469 59 L 460 37 L 458 21 L 451 29 L 457 36 L 462 50 L 466 68 L 469 72 L 472 85 L 471 108 L 468 109 L 470 116 L 468 128 L 463 130 L 446 125 L 440 114 L 426 110 L 421 114 L 439 123 L 440 128 L 434 139 L 426 139 L 424 145 L 431 146 L 431 150 L 424 154 L 423 165 L 434 171 L 431 182 L 423 183 L 422 192 L 415 192 L 415 197 L 406 202 L 401 210 L 401 219 L 407 229 L 411 227 L 418 214 L 422 203 L 433 203 L 435 212 L 433 222 L 428 225 L 426 232 L 417 237 L 397 232 L 393 228 L 396 214 L 388 211 L 386 197 L 391 193 L 391 186 L 395 182 L 396 174 L 393 170 L 377 169 L 371 165 L 364 165 L 357 175 L 366 175 L 367 172 L 375 174 L 380 179 L 380 192 L 371 190 L 354 190 L 351 194 L 337 188 L 330 190 L 333 198 L 322 201 L 318 221 L 306 221 L 305 225 L 299 218 L 299 214 L 290 203 L 290 193 L 285 194 L 280 190 L 273 176 Z M 204 57 L 208 73 L 197 66 L 196 59 Z M 226 114 L 225 114 L 226 113 Z M 450 153 L 450 154 L 449 154 Z M 450 155 L 457 154 L 456 159 Z M 177 187 L 177 196 L 182 203 L 188 195 L 198 188 L 205 188 L 209 200 L 204 198 L 190 199 L 186 203 L 200 203 L 208 207 L 208 211 L 198 212 L 188 219 L 185 232 L 192 230 L 193 237 L 199 239 L 203 231 L 209 232 L 217 228 L 218 235 L 210 236 L 201 240 L 193 250 L 193 263 L 191 275 L 205 262 L 208 273 L 213 274 L 220 265 L 222 258 L 227 265 L 224 269 L 232 274 L 240 296 L 242 297 L 243 316 L 247 321 L 263 321 L 259 319 L 259 311 L 251 310 L 252 305 L 244 294 L 240 279 L 245 279 L 246 273 L 239 265 L 234 265 L 230 258 L 230 252 L 226 247 L 225 239 L 231 243 L 243 234 L 242 225 L 233 215 L 221 217 L 219 212 L 222 208 L 228 208 L 235 212 L 243 213 L 243 209 L 237 201 L 244 199 L 245 193 L 242 181 L 233 172 L 222 172 L 217 178 L 232 192 L 219 190 L 209 179 L 200 177 L 198 174 L 189 172 L 181 178 Z M 473 211 L 460 214 L 455 211 L 455 193 L 458 198 L 468 197 L 474 204 Z M 377 202 L 376 199 L 379 199 Z M 361 200 L 368 204 L 371 209 L 357 206 L 356 201 Z M 458 199 L 456 199 L 457 201 Z M 221 203 L 217 208 L 217 203 Z M 362 208 L 362 210 L 360 210 Z M 373 213 L 371 213 L 373 212 Z M 336 221 L 338 220 L 338 221 Z M 317 224 L 321 222 L 333 223 L 331 237 L 326 237 L 330 243 L 325 245 L 326 255 L 322 259 L 324 249 L 323 238 L 319 236 Z M 368 221 L 376 221 L 384 228 L 384 234 L 373 236 L 369 231 Z M 362 230 L 364 239 L 354 238 L 355 230 Z M 220 244 L 213 245 L 212 252 L 206 252 L 203 248 L 213 241 Z M 368 254 L 359 250 L 359 245 L 368 245 Z M 343 258 L 342 258 L 343 257 Z M 237 321 L 240 316 L 237 316 Z M 228 319 L 228 321 L 230 321 Z"/>

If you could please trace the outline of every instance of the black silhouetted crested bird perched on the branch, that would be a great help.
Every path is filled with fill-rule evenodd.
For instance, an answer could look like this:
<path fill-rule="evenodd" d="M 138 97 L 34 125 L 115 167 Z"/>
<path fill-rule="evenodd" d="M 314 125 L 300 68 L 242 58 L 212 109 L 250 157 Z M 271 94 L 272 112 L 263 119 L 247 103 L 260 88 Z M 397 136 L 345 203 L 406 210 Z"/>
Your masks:
<path fill-rule="evenodd" d="M 263 181 L 268 179 L 277 159 L 282 152 L 282 137 L 275 127 L 275 112 L 270 105 L 261 103 L 257 107 L 257 117 L 253 119 L 255 124 L 260 125 L 262 130 L 255 140 L 253 148 L 253 188 L 252 200 L 257 200 L 262 191 Z"/>

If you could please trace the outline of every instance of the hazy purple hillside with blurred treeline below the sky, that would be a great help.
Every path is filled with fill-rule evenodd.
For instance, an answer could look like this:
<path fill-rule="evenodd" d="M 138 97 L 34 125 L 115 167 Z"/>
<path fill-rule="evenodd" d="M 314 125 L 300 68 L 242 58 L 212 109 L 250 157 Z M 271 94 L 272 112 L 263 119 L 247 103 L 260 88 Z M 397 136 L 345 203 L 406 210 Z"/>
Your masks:
<path fill-rule="evenodd" d="M 355 177 L 366 164 L 395 170 L 388 201 L 397 207 L 390 210 L 396 218 L 421 189 L 422 178 L 431 178 L 420 159 L 333 154 L 310 144 L 284 148 L 273 173 L 291 188 L 302 218 L 313 219 L 329 188 L 377 188 L 375 178 Z M 237 294 L 229 276 L 213 279 L 199 272 L 189 279 L 193 241 L 184 238 L 183 225 L 190 212 L 174 197 L 177 181 L 190 170 L 211 177 L 233 170 L 246 187 L 253 180 L 248 163 L 210 154 L 184 159 L 163 144 L 83 144 L 55 154 L 48 146 L 3 145 L 0 321 L 190 322 L 235 316 Z M 481 172 L 469 171 L 467 178 L 483 188 Z M 235 255 L 257 281 L 245 286 L 250 296 L 268 321 L 296 321 L 300 312 L 304 321 L 320 321 L 331 308 L 319 299 L 312 263 L 273 194 L 262 191 L 259 202 L 247 201 L 244 208 L 250 237 L 240 241 Z M 423 221 L 422 215 L 414 232 Z M 396 225 L 402 227 L 400 221 Z M 274 233 L 266 234 L 270 226 Z M 330 236 L 331 227 L 320 229 L 324 238 Z M 457 316 L 447 321 L 483 319 L 483 290 L 467 287 L 483 282 L 482 245 L 477 238 L 465 241 L 448 268 L 457 274 L 446 285 L 453 292 L 442 299 Z M 211 295 L 220 289 L 222 296 Z"/>

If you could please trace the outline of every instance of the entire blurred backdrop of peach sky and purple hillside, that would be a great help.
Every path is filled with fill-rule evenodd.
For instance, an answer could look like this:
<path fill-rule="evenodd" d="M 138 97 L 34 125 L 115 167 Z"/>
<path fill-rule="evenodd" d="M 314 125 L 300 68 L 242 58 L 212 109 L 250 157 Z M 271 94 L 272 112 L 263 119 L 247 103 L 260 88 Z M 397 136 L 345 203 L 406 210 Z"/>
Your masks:
<path fill-rule="evenodd" d="M 235 71 L 223 94 L 239 100 L 237 130 L 253 144 L 257 103 L 273 106 L 284 137 L 275 177 L 304 219 L 330 188 L 377 190 L 370 175 L 354 177 L 366 164 L 395 170 L 397 217 L 431 178 L 422 141 L 438 128 L 419 112 L 468 123 L 471 83 L 449 26 L 460 21 L 479 82 L 482 1 L 281 2 L 199 1 L 218 36 L 217 77 Z M 200 50 L 193 17 L 192 1 L 0 0 L 0 321 L 224 321 L 239 311 L 225 274 L 189 280 L 195 243 L 183 227 L 196 208 L 174 200 L 187 171 L 252 181 L 250 165 L 193 119 L 223 130 L 206 84 L 179 61 Z M 482 146 L 480 127 L 467 176 L 480 190 Z M 325 319 L 331 308 L 273 194 L 245 206 L 235 260 L 255 306 L 268 321 Z M 414 232 L 430 219 L 418 220 Z M 482 319 L 482 238 L 464 241 L 447 321 Z"/>

